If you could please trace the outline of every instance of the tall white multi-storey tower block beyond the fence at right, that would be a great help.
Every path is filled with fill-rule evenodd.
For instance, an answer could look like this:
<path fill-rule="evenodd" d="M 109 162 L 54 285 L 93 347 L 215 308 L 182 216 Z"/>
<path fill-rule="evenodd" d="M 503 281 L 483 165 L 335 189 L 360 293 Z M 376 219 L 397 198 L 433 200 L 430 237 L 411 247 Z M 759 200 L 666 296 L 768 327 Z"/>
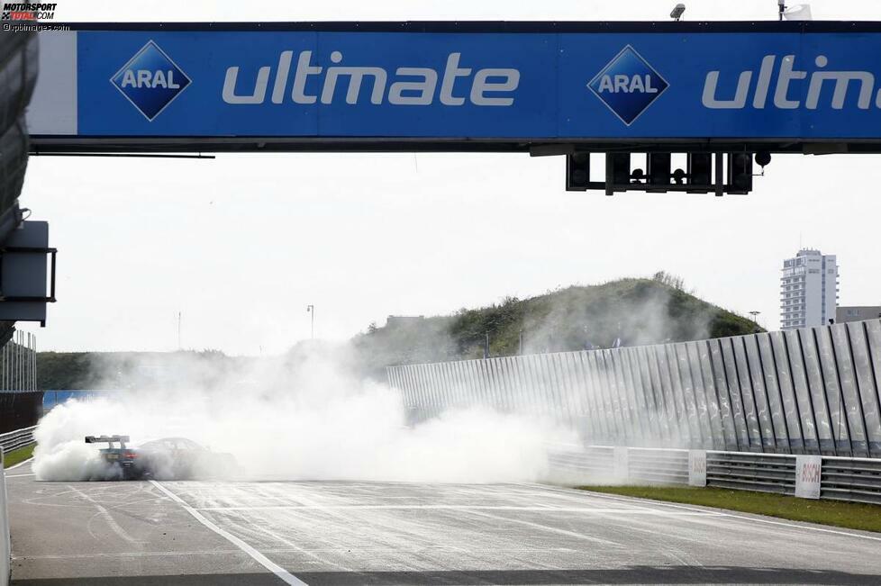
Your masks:
<path fill-rule="evenodd" d="M 783 261 L 780 277 L 781 329 L 821 326 L 835 319 L 838 265 L 835 255 L 803 248 Z"/>

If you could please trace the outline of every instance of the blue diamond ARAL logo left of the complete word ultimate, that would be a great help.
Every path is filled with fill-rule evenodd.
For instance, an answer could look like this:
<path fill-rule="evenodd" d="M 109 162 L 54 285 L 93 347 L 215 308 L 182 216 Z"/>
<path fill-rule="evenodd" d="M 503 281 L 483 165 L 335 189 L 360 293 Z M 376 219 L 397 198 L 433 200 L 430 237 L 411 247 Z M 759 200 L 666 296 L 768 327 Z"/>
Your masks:
<path fill-rule="evenodd" d="M 138 51 L 110 83 L 150 122 L 190 85 L 190 78 L 153 41 Z"/>

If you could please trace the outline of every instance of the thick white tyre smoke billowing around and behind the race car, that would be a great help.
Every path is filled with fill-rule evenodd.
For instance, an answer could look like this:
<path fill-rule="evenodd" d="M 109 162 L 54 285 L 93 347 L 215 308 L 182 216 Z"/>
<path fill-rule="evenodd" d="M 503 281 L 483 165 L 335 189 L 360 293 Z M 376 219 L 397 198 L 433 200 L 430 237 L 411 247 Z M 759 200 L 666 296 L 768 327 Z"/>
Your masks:
<path fill-rule="evenodd" d="M 131 386 L 142 390 L 68 401 L 41 419 L 34 472 L 50 481 L 112 479 L 101 446 L 84 437 L 122 434 L 133 446 L 189 437 L 234 455 L 245 479 L 529 482 L 547 474 L 549 443 L 573 441 L 549 420 L 486 408 L 408 427 L 397 391 L 361 380 L 333 354 L 241 363 L 223 380 L 205 377 L 195 357 L 177 356 L 175 372 L 134 369 L 141 379 Z"/>

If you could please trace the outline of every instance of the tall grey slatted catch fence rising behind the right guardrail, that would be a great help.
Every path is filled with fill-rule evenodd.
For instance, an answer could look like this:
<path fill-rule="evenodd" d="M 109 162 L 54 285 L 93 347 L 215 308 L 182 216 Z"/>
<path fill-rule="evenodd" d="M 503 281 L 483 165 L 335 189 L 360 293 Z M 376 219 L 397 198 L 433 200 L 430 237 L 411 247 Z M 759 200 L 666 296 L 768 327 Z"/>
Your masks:
<path fill-rule="evenodd" d="M 387 369 L 411 419 L 486 405 L 584 445 L 881 457 L 881 320 Z"/>

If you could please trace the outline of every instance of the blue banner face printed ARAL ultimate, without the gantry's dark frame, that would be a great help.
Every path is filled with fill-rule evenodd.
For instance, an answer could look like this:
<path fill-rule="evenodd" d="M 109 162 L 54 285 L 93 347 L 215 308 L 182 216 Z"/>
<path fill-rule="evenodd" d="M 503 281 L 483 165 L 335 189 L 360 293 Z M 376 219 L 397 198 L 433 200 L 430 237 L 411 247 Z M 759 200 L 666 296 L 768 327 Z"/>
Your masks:
<path fill-rule="evenodd" d="M 881 136 L 881 32 L 68 34 L 73 123 L 38 136 Z"/>

